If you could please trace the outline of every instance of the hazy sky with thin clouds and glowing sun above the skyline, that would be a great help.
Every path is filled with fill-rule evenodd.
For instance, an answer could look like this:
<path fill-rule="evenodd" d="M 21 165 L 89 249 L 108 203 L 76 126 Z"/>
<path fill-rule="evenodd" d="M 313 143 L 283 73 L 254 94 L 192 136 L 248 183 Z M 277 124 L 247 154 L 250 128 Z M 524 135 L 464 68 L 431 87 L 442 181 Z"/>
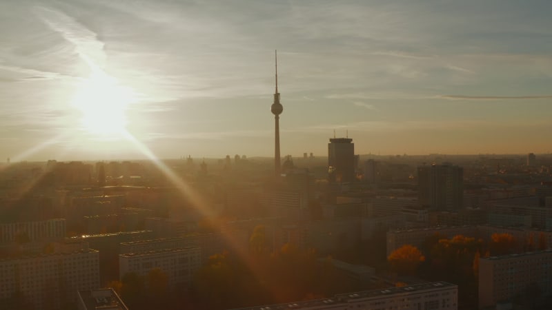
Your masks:
<path fill-rule="evenodd" d="M 552 1 L 0 1 L 0 158 L 552 152 Z"/>

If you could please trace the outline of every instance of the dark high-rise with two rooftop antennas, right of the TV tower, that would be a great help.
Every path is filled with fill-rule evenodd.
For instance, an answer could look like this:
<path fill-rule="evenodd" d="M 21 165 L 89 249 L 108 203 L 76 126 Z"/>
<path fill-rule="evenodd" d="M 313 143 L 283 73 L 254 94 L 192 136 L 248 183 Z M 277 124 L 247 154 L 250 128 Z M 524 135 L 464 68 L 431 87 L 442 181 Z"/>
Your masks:
<path fill-rule="evenodd" d="M 330 139 L 330 143 L 328 143 L 328 178 L 331 183 L 355 180 L 355 143 L 353 143 L 353 139 Z"/>

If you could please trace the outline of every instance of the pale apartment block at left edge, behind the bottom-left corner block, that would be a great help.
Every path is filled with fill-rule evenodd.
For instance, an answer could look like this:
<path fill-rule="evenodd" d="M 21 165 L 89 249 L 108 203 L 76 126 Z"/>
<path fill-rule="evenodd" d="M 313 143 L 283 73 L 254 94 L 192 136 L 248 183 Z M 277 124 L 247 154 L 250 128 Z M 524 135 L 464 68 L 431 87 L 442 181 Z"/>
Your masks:
<path fill-rule="evenodd" d="M 0 243 L 12 242 L 20 234 L 26 234 L 29 241 L 65 238 L 66 220 L 51 218 L 34 222 L 0 223 Z"/>

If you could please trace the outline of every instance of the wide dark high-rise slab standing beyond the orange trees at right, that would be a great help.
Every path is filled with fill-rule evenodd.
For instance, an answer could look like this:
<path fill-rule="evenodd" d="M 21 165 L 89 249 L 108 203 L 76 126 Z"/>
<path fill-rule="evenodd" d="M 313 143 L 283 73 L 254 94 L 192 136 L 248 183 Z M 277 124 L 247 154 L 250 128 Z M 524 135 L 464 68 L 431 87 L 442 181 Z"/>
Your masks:
<path fill-rule="evenodd" d="M 424 165 L 418 171 L 420 205 L 447 211 L 462 208 L 464 169 L 451 164 Z"/>

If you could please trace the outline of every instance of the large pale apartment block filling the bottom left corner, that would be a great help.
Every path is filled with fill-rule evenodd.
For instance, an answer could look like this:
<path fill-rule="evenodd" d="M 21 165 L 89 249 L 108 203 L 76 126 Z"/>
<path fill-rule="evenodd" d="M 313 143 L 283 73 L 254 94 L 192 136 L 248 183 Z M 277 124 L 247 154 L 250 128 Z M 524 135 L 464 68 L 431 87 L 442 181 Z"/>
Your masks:
<path fill-rule="evenodd" d="M 20 292 L 34 309 L 59 309 L 76 302 L 77 291 L 98 287 L 99 252 L 93 249 L 0 259 L 0 300 Z"/>

